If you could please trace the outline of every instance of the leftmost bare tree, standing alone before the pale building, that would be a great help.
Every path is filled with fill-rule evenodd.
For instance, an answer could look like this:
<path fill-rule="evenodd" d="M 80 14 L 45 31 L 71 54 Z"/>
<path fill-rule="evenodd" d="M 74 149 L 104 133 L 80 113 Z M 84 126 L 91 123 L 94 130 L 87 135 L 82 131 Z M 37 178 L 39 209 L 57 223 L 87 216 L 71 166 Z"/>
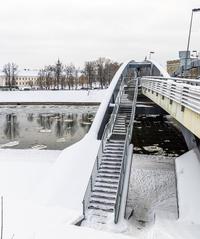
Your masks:
<path fill-rule="evenodd" d="M 11 89 L 16 86 L 16 76 L 17 76 L 18 66 L 15 63 L 8 63 L 4 65 L 3 72 L 6 76 L 6 85 Z"/>

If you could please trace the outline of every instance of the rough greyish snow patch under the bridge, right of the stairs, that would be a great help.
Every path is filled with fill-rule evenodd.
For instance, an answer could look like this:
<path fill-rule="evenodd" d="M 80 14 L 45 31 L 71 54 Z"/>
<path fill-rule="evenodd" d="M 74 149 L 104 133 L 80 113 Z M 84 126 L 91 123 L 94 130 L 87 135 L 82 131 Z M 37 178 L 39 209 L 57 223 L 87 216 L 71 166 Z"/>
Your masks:
<path fill-rule="evenodd" d="M 127 214 L 141 224 L 154 221 L 156 212 L 177 217 L 174 159 L 153 155 L 133 155 L 127 200 Z"/>

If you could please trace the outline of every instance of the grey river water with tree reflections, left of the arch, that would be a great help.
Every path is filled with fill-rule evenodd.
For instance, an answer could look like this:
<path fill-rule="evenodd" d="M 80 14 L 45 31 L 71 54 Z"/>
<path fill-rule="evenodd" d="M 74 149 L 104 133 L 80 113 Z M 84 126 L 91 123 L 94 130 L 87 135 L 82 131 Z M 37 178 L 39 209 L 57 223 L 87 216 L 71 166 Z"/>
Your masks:
<path fill-rule="evenodd" d="M 0 148 L 64 149 L 88 132 L 97 106 L 2 106 Z"/>

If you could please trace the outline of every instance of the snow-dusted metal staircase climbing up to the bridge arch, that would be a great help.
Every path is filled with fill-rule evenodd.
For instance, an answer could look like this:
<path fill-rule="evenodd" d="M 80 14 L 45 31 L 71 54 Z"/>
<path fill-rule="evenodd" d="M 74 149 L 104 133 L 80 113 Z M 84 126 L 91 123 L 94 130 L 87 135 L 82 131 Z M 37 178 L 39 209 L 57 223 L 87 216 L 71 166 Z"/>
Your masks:
<path fill-rule="evenodd" d="M 82 225 L 106 224 L 110 216 L 118 221 L 136 98 L 137 79 L 123 80 L 83 200 Z"/>

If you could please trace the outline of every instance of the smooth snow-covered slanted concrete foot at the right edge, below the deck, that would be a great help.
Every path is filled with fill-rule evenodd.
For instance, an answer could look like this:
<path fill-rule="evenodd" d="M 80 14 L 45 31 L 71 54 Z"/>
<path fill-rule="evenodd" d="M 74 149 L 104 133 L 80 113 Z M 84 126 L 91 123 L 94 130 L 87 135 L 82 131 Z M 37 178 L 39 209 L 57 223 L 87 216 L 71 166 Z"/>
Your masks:
<path fill-rule="evenodd" d="M 190 150 L 176 159 L 180 219 L 200 224 L 200 155 Z"/>

